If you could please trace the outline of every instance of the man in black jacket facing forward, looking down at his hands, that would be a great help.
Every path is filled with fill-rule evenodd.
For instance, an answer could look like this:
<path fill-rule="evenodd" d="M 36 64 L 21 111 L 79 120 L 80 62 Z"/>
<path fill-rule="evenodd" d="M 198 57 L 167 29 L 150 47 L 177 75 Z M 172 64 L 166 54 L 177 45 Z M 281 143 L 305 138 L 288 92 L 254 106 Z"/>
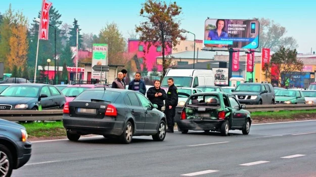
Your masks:
<path fill-rule="evenodd" d="M 152 104 L 156 104 L 158 106 L 157 109 L 161 111 L 163 101 L 167 98 L 167 94 L 160 88 L 160 80 L 155 80 L 155 86 L 148 89 L 147 98 Z"/>

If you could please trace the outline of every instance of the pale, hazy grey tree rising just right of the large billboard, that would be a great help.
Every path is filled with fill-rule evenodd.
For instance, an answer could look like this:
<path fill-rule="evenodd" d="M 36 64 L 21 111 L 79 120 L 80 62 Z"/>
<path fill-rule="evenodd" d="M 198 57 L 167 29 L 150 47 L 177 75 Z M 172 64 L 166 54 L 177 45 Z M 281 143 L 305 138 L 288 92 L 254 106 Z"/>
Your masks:
<path fill-rule="evenodd" d="M 291 50 L 298 47 L 296 39 L 284 36 L 286 28 L 270 19 L 261 18 L 260 34 L 259 34 L 259 48 L 269 48 L 272 51 L 278 51 L 281 46 Z"/>

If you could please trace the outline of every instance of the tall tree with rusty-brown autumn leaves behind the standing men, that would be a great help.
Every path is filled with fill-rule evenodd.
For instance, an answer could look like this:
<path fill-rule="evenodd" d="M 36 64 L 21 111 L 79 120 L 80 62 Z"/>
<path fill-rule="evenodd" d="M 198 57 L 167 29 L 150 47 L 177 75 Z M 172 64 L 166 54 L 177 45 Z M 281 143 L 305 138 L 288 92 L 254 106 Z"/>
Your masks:
<path fill-rule="evenodd" d="M 182 13 L 182 8 L 175 2 L 166 5 L 165 2 L 147 0 L 141 9 L 140 16 L 146 19 L 136 26 L 136 32 L 140 32 L 140 41 L 143 41 L 149 48 L 154 45 L 162 47 L 163 76 L 166 74 L 165 52 L 167 47 L 172 48 L 178 45 L 185 37 L 179 29 L 180 20 L 178 16 Z"/>

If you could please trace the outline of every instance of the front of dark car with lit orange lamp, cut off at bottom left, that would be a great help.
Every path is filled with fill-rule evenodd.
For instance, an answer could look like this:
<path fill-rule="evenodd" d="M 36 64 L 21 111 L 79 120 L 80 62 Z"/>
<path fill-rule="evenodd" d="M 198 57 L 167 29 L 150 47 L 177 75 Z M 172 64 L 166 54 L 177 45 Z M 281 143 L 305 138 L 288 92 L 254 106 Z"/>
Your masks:
<path fill-rule="evenodd" d="M 23 166 L 31 157 L 31 146 L 24 126 L 0 119 L 0 176 Z"/>

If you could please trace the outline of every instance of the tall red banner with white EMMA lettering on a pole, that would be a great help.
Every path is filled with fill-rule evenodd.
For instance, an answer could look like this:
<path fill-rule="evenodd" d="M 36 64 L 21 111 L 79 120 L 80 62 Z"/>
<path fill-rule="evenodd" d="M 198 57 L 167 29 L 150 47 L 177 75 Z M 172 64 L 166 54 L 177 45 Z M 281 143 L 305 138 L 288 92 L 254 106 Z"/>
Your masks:
<path fill-rule="evenodd" d="M 50 24 L 51 7 L 52 7 L 51 2 L 47 0 L 43 0 L 42 6 L 41 6 L 39 32 L 38 32 L 39 39 L 48 40 L 48 29 L 49 29 L 49 24 Z"/>

